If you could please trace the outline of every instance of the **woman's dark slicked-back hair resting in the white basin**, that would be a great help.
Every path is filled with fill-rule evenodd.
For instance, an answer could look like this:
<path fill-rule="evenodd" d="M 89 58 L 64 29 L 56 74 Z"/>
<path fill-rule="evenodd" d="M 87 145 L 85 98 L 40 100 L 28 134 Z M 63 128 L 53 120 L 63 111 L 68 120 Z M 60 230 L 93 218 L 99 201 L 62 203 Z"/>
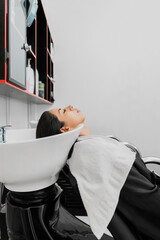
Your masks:
<path fill-rule="evenodd" d="M 36 138 L 47 137 L 61 133 L 60 129 L 64 126 L 64 122 L 60 122 L 57 116 L 49 111 L 42 113 L 36 129 Z"/>

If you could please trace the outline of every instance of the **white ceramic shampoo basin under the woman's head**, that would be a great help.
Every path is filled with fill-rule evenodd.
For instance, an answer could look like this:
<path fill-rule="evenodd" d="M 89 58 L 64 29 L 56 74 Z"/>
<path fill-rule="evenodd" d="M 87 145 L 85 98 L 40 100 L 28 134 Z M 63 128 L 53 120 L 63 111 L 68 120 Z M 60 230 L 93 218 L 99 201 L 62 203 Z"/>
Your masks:
<path fill-rule="evenodd" d="M 11 191 L 27 192 L 55 183 L 83 124 L 67 133 L 35 138 L 35 129 L 8 130 L 0 144 L 0 182 Z"/>

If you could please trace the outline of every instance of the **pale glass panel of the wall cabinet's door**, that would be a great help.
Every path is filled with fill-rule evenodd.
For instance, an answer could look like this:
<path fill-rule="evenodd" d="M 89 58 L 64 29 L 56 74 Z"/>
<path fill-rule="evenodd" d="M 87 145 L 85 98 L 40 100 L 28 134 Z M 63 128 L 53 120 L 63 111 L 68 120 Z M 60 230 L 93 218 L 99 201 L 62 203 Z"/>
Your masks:
<path fill-rule="evenodd" d="M 25 4 L 25 1 L 23 1 Z M 26 88 L 26 11 L 21 1 L 9 1 L 9 82 Z"/>

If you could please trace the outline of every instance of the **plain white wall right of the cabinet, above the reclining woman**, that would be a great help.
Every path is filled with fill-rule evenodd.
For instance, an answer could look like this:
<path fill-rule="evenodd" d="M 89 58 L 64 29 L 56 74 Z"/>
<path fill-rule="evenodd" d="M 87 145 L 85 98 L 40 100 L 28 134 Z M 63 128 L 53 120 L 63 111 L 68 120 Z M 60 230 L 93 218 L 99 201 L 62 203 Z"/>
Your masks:
<path fill-rule="evenodd" d="M 55 41 L 56 104 L 160 156 L 160 1 L 43 0 Z"/>

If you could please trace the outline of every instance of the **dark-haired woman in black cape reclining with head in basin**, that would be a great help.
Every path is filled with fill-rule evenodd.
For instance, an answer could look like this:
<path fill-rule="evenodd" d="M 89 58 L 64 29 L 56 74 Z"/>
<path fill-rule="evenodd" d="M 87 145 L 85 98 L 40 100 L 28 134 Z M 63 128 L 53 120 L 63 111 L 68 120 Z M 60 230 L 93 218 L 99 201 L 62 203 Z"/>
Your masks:
<path fill-rule="evenodd" d="M 77 108 L 44 112 L 37 138 L 70 131 L 84 124 L 80 136 L 91 135 L 85 116 Z M 116 211 L 108 225 L 117 240 L 160 240 L 160 178 L 150 172 L 137 150 L 136 159 L 121 190 Z"/>

